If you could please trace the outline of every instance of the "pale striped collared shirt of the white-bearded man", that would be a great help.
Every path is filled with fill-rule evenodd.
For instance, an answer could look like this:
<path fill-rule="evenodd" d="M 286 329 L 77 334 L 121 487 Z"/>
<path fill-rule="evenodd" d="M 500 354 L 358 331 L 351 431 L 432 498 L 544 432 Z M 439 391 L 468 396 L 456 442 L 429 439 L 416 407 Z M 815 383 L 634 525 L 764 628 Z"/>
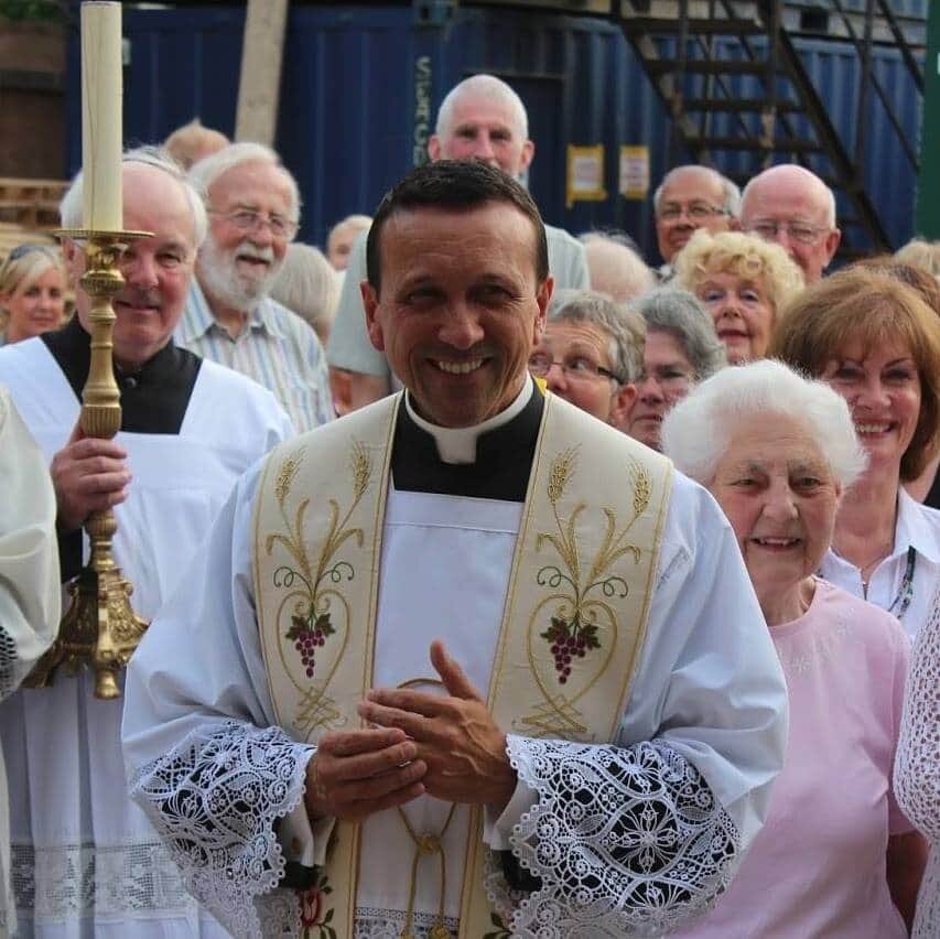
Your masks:
<path fill-rule="evenodd" d="M 233 338 L 216 322 L 193 278 L 174 338 L 177 345 L 263 385 L 281 402 L 298 432 L 333 420 L 326 356 L 316 333 L 270 296 L 251 311 Z"/>

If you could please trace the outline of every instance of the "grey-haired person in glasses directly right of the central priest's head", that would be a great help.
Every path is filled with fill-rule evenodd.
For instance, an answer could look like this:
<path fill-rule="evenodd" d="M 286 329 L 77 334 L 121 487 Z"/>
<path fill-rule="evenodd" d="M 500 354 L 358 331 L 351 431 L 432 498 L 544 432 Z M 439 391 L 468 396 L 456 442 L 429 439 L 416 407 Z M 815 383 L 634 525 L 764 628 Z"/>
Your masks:
<path fill-rule="evenodd" d="M 529 371 L 572 404 L 623 427 L 642 367 L 642 320 L 602 293 L 560 290 Z"/>

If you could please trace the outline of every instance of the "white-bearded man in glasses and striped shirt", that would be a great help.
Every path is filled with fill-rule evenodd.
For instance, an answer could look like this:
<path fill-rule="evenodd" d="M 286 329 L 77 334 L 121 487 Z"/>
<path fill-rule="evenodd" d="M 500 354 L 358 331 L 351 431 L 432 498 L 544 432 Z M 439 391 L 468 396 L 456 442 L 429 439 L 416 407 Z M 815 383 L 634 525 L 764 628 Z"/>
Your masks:
<path fill-rule="evenodd" d="M 206 199 L 209 230 L 177 344 L 263 385 L 299 431 L 325 423 L 334 412 L 323 346 L 269 295 L 298 230 L 294 177 L 270 148 L 233 143 L 196 163 L 190 181 Z"/>

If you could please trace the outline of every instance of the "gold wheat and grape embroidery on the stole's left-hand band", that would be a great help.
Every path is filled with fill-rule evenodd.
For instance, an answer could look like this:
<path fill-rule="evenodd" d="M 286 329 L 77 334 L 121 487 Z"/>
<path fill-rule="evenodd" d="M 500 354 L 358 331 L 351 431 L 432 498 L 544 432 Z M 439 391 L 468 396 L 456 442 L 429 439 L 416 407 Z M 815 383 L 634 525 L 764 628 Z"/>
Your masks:
<path fill-rule="evenodd" d="M 332 725 L 341 716 L 326 689 L 349 637 L 349 605 L 342 593 L 342 583 L 353 580 L 356 570 L 348 560 L 337 555 L 350 538 L 359 548 L 363 547 L 363 529 L 352 526 L 350 519 L 369 486 L 372 462 L 365 446 L 354 442 L 349 457 L 352 501 L 341 518 L 339 503 L 328 500 L 326 537 L 315 563 L 311 563 L 303 537 L 310 498 L 300 500 L 293 518 L 288 507 L 303 458 L 304 449 L 301 447 L 285 457 L 278 470 L 274 496 L 285 532 L 268 535 L 264 548 L 270 555 L 279 544 L 289 555 L 289 561 L 279 564 L 272 574 L 273 585 L 287 591 L 278 606 L 279 634 L 285 615 L 290 616 L 290 625 L 283 632 L 283 641 L 278 643 L 278 650 L 284 672 L 301 695 L 296 726 L 309 734 L 317 727 Z"/>

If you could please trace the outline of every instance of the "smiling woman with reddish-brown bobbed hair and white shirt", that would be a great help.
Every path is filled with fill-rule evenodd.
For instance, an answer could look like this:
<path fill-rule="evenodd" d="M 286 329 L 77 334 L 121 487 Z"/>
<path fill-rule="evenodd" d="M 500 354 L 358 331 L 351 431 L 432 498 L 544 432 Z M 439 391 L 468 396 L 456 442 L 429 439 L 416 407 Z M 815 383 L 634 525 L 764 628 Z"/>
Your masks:
<path fill-rule="evenodd" d="M 847 401 L 868 454 L 820 572 L 916 636 L 940 578 L 940 511 L 901 484 L 940 446 L 940 317 L 910 287 L 854 267 L 797 298 L 770 354 Z"/>

